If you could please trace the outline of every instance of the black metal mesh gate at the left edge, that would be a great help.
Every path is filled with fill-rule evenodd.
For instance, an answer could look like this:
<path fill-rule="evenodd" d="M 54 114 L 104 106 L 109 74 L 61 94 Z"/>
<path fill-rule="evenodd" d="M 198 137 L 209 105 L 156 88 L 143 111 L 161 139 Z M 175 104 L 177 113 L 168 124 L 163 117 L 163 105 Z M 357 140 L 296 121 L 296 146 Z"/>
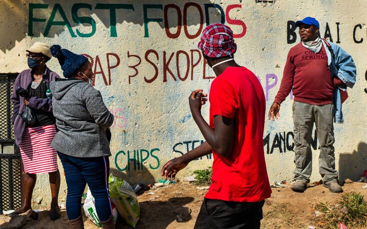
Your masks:
<path fill-rule="evenodd" d="M 21 157 L 15 145 L 10 100 L 17 74 L 0 73 L 0 214 L 21 207 Z"/>

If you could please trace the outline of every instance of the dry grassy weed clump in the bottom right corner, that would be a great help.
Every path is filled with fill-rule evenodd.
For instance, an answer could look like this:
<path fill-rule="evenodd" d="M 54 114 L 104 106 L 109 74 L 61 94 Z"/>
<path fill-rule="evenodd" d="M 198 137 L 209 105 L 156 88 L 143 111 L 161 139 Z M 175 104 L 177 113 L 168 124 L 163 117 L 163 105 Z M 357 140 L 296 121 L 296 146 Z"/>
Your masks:
<path fill-rule="evenodd" d="M 348 228 L 362 228 L 367 224 L 367 202 L 356 192 L 342 194 L 336 205 L 319 201 L 315 209 L 322 213 L 317 221 L 325 228 L 338 229 L 339 222 Z"/>

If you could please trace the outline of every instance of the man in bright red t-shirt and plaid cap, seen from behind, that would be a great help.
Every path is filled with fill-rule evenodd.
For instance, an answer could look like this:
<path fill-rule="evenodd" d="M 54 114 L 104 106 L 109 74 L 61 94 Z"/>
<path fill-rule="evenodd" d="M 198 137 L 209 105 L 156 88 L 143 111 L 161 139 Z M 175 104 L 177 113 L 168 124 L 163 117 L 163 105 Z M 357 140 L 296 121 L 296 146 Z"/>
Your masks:
<path fill-rule="evenodd" d="M 212 184 L 195 228 L 260 228 L 264 200 L 271 189 L 265 164 L 263 132 L 265 96 L 258 78 L 238 65 L 232 30 L 211 24 L 198 47 L 217 78 L 210 87 L 210 125 L 201 115 L 203 90 L 189 97 L 192 117 L 206 142 L 163 166 L 162 176 L 174 179 L 189 162 L 213 152 Z"/>

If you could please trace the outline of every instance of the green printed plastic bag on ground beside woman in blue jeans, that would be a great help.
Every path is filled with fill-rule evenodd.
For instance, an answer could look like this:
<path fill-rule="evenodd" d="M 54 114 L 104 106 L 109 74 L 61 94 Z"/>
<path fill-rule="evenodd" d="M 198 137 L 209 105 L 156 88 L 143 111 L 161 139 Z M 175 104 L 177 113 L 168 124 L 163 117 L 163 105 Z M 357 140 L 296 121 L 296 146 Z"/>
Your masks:
<path fill-rule="evenodd" d="M 139 202 L 129 183 L 112 175 L 108 178 L 111 202 L 126 224 L 135 228 L 140 217 Z"/>

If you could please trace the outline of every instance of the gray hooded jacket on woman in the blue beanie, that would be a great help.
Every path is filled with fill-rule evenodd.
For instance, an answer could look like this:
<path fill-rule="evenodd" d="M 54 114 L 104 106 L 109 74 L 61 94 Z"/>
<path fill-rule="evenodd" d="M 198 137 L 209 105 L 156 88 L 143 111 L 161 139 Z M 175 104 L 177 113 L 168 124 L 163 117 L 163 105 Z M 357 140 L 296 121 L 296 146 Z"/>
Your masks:
<path fill-rule="evenodd" d="M 101 93 L 79 79 L 56 79 L 50 83 L 52 109 L 58 132 L 51 147 L 78 158 L 111 156 L 106 129 L 113 115 Z"/>

